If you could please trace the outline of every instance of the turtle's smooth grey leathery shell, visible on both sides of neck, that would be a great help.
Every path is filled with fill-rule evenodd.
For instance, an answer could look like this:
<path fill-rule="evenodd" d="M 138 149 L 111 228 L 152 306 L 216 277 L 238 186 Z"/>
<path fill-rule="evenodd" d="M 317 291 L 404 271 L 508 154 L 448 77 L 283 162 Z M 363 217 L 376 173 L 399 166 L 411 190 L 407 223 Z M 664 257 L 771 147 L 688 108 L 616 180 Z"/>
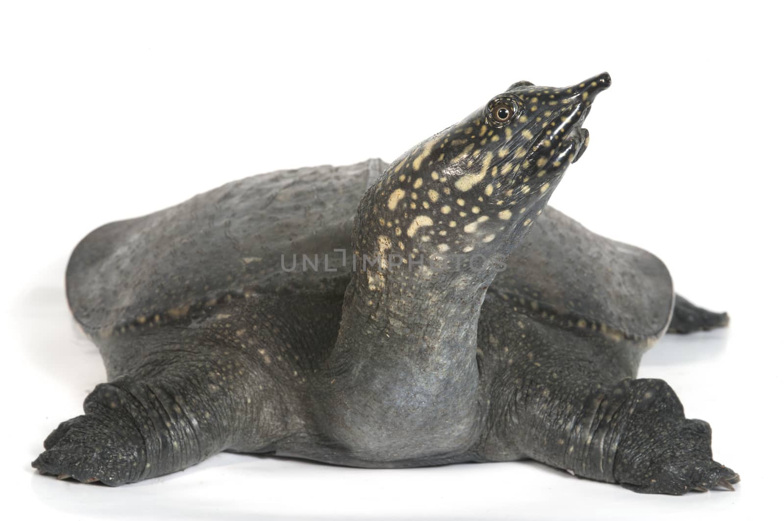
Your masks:
<path fill-rule="evenodd" d="M 356 208 L 387 167 L 367 160 L 260 174 L 98 228 L 68 264 L 74 317 L 90 334 L 111 337 L 209 314 L 226 296 L 277 292 L 307 300 L 328 288 L 342 297 Z M 644 343 L 665 331 L 674 299 L 657 257 L 594 234 L 551 207 L 492 289 L 553 327 L 598 329 Z"/>

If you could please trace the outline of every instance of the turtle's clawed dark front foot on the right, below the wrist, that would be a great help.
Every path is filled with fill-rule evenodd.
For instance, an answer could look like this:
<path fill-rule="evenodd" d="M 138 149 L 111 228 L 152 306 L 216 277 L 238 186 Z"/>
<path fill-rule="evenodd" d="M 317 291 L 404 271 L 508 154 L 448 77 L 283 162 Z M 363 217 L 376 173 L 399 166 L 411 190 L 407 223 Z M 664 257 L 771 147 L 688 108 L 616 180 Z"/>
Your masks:
<path fill-rule="evenodd" d="M 681 403 L 666 383 L 652 387 L 645 397 L 619 444 L 615 480 L 644 494 L 735 490 L 738 473 L 713 461 L 710 426 L 684 419 Z"/>

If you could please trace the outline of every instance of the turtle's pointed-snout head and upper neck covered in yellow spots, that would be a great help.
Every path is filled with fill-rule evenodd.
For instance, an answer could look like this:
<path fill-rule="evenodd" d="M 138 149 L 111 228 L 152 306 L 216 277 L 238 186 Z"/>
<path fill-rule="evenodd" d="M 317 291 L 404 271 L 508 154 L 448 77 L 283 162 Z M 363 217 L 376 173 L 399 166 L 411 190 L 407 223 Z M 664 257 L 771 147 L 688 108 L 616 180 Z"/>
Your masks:
<path fill-rule="evenodd" d="M 361 205 L 378 225 L 360 242 L 392 232 L 399 250 L 503 257 L 582 155 L 583 121 L 609 85 L 606 73 L 564 88 L 512 84 L 390 164 Z"/>

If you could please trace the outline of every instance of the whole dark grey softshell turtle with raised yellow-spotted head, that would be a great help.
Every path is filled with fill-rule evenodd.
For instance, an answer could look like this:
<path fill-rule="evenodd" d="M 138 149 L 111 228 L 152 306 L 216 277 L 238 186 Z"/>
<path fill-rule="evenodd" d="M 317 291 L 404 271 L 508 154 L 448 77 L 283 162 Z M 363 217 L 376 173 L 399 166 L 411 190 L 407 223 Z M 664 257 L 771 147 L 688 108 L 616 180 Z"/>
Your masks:
<path fill-rule="evenodd" d="M 33 466 L 120 485 L 219 451 L 534 458 L 638 492 L 731 488 L 708 424 L 635 379 L 668 326 L 726 314 L 546 206 L 609 84 L 521 81 L 389 165 L 258 175 L 98 228 L 67 296 L 109 383 Z"/>

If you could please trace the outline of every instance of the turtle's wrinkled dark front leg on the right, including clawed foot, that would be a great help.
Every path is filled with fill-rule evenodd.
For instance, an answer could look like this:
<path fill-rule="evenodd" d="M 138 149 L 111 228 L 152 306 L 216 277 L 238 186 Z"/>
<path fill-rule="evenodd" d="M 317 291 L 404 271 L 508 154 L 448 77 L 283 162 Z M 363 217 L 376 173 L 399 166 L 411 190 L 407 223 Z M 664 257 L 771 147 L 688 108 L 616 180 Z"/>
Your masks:
<path fill-rule="evenodd" d="M 536 336 L 533 330 L 527 329 L 528 338 Z M 739 481 L 713 461 L 710 426 L 686 419 L 666 382 L 612 374 L 603 349 L 538 342 L 507 354 L 506 368 L 496 364 L 495 372 L 493 354 L 483 356 L 492 380 L 485 458 L 533 458 L 644 493 L 731 489 Z"/>

